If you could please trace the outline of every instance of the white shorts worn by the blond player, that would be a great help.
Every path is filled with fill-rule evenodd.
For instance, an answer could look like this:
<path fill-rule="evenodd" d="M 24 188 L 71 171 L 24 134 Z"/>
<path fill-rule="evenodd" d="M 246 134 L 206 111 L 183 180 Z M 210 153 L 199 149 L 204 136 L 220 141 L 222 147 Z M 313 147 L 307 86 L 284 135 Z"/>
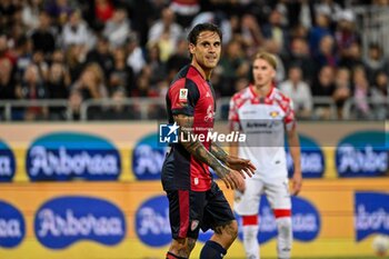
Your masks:
<path fill-rule="evenodd" d="M 245 193 L 235 192 L 233 209 L 239 215 L 258 215 L 259 201 L 265 193 L 270 207 L 275 209 L 291 209 L 288 178 L 259 179 L 247 178 Z"/>

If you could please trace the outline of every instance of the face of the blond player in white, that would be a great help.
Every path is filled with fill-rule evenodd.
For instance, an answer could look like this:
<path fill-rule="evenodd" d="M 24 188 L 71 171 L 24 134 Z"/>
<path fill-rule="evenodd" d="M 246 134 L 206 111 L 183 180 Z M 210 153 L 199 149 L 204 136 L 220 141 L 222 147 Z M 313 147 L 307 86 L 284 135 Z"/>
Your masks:
<path fill-rule="evenodd" d="M 257 87 L 268 87 L 276 77 L 276 70 L 265 59 L 256 59 L 252 63 L 252 76 Z"/>

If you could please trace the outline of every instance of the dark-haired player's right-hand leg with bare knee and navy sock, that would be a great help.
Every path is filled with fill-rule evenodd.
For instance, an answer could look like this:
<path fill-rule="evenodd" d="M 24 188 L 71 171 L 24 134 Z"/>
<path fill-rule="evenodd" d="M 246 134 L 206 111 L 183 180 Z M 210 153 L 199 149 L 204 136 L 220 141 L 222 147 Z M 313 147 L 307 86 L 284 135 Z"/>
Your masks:
<path fill-rule="evenodd" d="M 212 228 L 215 233 L 203 246 L 200 259 L 221 259 L 238 236 L 238 223 L 216 182 L 212 182 L 211 189 L 207 192 L 207 201 L 201 229 L 207 231 Z"/>

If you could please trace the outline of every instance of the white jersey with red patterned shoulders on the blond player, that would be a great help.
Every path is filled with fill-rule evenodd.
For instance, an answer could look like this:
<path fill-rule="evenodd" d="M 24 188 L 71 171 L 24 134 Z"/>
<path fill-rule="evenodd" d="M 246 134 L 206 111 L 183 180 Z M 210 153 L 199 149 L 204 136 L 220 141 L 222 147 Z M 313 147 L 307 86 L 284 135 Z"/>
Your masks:
<path fill-rule="evenodd" d="M 288 176 L 285 133 L 296 127 L 290 98 L 275 87 L 261 98 L 250 84 L 231 98 L 229 121 L 231 130 L 246 133 L 246 142 L 239 143 L 239 157 L 257 167 L 256 178 Z"/>

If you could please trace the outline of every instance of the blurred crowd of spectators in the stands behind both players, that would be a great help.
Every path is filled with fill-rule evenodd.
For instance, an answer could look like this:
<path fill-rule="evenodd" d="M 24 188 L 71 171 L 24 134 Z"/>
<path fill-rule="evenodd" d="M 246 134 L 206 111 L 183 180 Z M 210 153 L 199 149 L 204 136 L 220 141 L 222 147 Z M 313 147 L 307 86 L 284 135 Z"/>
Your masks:
<path fill-rule="evenodd" d="M 357 119 L 386 119 L 389 60 L 379 42 L 362 46 L 350 2 L 387 8 L 389 1 L 1 0 L 0 100 L 67 99 L 79 119 L 89 99 L 164 98 L 190 61 L 188 29 L 210 21 L 223 31 L 211 80 L 218 97 L 250 82 L 251 57 L 263 49 L 277 57 L 277 87 L 293 99 L 299 118 L 330 118 L 328 103 L 313 101 L 328 97 L 337 119 L 348 100 Z M 66 112 L 29 107 L 12 117 L 61 120 Z M 153 117 L 163 112 L 156 106 Z M 92 113 L 139 116 L 119 104 Z"/>

